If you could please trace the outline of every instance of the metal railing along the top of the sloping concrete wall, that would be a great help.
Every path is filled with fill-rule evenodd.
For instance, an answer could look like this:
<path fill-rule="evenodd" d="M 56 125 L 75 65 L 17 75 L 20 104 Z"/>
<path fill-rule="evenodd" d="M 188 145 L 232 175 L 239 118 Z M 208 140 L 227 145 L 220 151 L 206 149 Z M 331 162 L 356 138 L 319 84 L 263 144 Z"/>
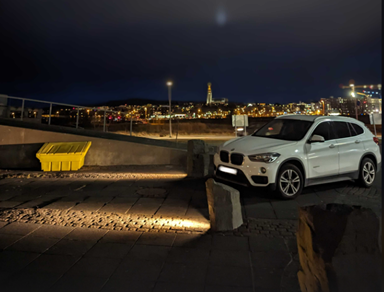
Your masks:
<path fill-rule="evenodd" d="M 51 125 L 51 118 L 52 118 L 52 106 L 53 105 L 59 105 L 59 106 L 67 106 L 72 107 L 77 110 L 76 114 L 76 129 L 79 128 L 79 116 L 80 116 L 80 109 L 90 109 L 90 110 L 96 110 L 96 111 L 103 111 L 104 117 L 103 117 L 103 132 L 106 131 L 106 121 L 107 121 L 107 113 L 120 113 L 118 111 L 109 110 L 109 109 L 100 109 L 97 107 L 88 107 L 88 106 L 80 106 L 80 105 L 74 105 L 74 104 L 68 104 L 68 103 L 60 103 L 60 102 L 50 102 L 50 101 L 44 101 L 44 100 L 38 100 L 38 99 L 31 99 L 31 98 L 24 98 L 24 97 L 15 97 L 15 96 L 8 96 L 0 94 L 0 98 L 6 98 L 6 99 L 13 99 L 13 100 L 21 100 L 21 115 L 20 120 L 23 120 L 24 115 L 24 108 L 25 108 L 25 101 L 31 101 L 31 102 L 37 102 L 37 103 L 44 103 L 49 104 L 49 115 L 48 115 L 48 125 Z M 131 115 L 131 126 L 130 126 L 130 135 L 132 136 L 132 115 Z"/>

